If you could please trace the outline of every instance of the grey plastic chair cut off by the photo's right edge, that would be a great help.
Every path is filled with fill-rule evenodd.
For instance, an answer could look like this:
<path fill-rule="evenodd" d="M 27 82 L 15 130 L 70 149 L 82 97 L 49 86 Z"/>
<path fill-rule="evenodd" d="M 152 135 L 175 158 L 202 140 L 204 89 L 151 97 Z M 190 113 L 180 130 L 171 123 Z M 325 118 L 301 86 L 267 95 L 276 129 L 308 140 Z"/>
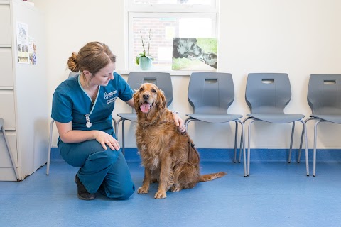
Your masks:
<path fill-rule="evenodd" d="M 341 124 L 341 74 L 312 74 L 308 84 L 308 104 L 312 114 L 305 120 L 315 120 L 313 176 L 316 176 L 316 140 L 318 138 L 318 124 L 321 122 Z M 300 153 L 303 143 L 302 131 Z M 305 133 L 306 134 L 306 133 Z"/>

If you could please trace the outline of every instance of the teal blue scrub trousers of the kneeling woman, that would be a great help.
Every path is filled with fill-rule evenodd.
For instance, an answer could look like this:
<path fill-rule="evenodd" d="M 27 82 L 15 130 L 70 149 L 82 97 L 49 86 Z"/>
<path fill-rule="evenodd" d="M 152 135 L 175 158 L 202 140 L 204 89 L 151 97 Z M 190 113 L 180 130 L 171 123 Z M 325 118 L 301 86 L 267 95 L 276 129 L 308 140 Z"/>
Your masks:
<path fill-rule="evenodd" d="M 121 150 L 104 150 L 97 140 L 58 145 L 65 162 L 79 167 L 77 175 L 87 192 L 101 192 L 110 199 L 128 199 L 135 191 Z"/>

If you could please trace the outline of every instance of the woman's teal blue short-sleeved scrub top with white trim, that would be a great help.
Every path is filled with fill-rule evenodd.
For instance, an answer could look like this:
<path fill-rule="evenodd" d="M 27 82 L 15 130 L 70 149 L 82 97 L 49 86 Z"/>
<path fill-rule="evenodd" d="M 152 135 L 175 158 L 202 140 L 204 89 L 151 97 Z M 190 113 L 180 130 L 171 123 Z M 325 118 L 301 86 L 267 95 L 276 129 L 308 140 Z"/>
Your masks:
<path fill-rule="evenodd" d="M 129 84 L 114 72 L 114 79 L 107 86 L 99 86 L 97 98 L 92 104 L 90 96 L 80 85 L 80 74 L 62 82 L 53 94 L 51 117 L 60 123 L 72 122 L 73 130 L 100 130 L 114 135 L 112 111 L 115 100 L 128 101 L 133 97 Z M 85 115 L 90 114 L 92 126 L 87 128 Z M 58 141 L 59 143 L 59 141 Z"/>

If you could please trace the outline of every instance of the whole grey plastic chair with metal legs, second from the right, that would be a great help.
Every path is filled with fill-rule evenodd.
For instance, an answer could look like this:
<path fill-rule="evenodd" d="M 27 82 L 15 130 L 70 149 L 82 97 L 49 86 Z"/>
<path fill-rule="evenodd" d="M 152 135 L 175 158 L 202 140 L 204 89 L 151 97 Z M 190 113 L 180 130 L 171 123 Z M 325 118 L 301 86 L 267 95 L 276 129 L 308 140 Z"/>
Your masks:
<path fill-rule="evenodd" d="M 293 123 L 291 129 L 290 151 L 288 162 L 291 162 L 291 150 L 293 147 L 293 133 L 295 122 L 303 123 L 303 130 L 306 130 L 303 114 L 285 114 L 284 108 L 291 99 L 291 85 L 286 73 L 250 73 L 247 77 L 247 88 L 245 100 L 250 108 L 251 114 L 247 114 L 244 125 L 249 121 L 248 142 L 247 142 L 247 175 L 250 175 L 250 143 L 251 125 L 255 121 L 268 123 Z M 246 126 L 246 125 L 245 125 Z M 299 159 L 297 160 L 299 162 Z M 308 140 L 305 135 L 305 167 L 309 176 L 308 162 Z"/>

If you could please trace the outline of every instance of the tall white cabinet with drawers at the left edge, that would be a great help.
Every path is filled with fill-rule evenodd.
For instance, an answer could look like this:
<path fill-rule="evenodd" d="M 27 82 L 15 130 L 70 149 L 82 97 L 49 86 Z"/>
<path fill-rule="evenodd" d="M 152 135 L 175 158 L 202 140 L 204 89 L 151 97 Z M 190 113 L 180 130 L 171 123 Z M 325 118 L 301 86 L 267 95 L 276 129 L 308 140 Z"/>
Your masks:
<path fill-rule="evenodd" d="M 16 23 L 25 23 L 36 42 L 36 65 L 18 62 Z M 4 118 L 19 180 L 45 165 L 47 159 L 50 117 L 45 57 L 43 13 L 26 1 L 0 0 L 0 118 Z M 0 180 L 16 181 L 2 135 Z"/>

